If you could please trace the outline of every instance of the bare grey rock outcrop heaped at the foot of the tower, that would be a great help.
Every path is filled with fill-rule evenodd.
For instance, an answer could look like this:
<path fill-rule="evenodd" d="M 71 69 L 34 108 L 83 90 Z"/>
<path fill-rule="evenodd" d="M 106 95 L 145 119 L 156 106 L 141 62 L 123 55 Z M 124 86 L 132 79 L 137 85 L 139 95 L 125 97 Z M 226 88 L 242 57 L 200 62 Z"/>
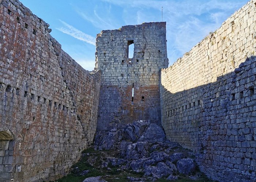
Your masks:
<path fill-rule="evenodd" d="M 102 167 L 110 163 L 120 169 L 142 172 L 145 178 L 139 181 L 149 180 L 148 177 L 150 181 L 176 180 L 179 174 L 192 174 L 196 167 L 193 154 L 167 140 L 162 126 L 144 121 L 128 124 L 124 129 L 97 132 L 94 149 L 118 151 L 116 158 L 102 162 Z"/>

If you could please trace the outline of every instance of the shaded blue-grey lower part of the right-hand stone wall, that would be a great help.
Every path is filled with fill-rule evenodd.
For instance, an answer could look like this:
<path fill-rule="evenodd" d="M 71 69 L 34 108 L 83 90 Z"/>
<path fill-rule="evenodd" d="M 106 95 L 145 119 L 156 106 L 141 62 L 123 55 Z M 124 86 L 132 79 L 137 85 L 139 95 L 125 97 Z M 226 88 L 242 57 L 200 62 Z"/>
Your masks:
<path fill-rule="evenodd" d="M 214 83 L 171 93 L 161 86 L 167 138 L 196 152 L 214 180 L 256 181 L 256 58 Z"/>

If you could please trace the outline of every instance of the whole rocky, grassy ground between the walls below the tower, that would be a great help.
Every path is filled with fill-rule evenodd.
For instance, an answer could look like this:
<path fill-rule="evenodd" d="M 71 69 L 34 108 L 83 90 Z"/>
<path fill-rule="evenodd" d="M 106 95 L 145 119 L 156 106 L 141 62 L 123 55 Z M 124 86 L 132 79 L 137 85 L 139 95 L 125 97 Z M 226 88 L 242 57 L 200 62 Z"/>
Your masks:
<path fill-rule="evenodd" d="M 83 151 L 59 182 L 209 181 L 191 151 L 166 139 L 161 126 L 144 121 L 95 135 L 94 149 Z"/>

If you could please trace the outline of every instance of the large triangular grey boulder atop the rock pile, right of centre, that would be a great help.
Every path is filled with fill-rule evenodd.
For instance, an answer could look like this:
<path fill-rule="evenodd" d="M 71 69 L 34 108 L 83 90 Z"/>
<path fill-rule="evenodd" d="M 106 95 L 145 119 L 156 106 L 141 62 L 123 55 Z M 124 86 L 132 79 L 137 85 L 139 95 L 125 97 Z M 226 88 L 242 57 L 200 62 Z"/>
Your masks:
<path fill-rule="evenodd" d="M 166 139 L 165 132 L 163 128 L 158 126 L 157 124 L 150 124 L 146 130 L 146 132 L 139 138 L 140 142 L 164 142 Z"/>

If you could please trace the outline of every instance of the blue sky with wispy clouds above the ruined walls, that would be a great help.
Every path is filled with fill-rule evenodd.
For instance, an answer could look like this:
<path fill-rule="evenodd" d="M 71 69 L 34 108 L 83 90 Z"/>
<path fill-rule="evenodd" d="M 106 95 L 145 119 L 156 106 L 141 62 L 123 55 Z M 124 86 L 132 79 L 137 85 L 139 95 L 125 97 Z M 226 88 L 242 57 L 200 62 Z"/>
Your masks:
<path fill-rule="evenodd" d="M 95 37 L 123 25 L 166 21 L 169 66 L 248 0 L 20 0 L 50 24 L 50 33 L 86 70 L 94 69 Z"/>

